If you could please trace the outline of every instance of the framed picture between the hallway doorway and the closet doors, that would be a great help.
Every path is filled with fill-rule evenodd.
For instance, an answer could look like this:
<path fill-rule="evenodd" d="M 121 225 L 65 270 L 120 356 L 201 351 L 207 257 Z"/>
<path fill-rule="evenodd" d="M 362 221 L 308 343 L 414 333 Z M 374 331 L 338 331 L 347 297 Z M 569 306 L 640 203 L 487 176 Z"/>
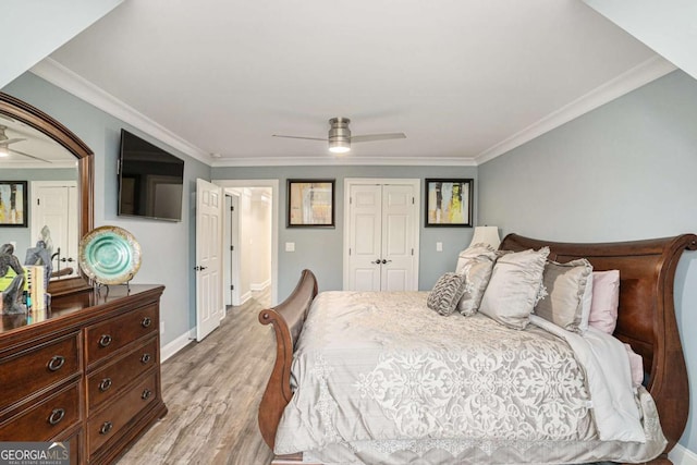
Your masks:
<path fill-rule="evenodd" d="M 334 180 L 288 180 L 288 227 L 334 227 Z"/>

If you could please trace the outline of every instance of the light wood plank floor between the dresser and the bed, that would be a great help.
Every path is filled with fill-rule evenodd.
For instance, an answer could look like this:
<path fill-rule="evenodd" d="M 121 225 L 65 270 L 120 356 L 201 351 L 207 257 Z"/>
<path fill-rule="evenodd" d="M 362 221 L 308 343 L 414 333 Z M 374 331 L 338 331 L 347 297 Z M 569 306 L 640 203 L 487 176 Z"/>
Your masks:
<path fill-rule="evenodd" d="M 267 287 L 268 289 L 268 287 Z M 162 364 L 168 415 L 121 457 L 119 465 L 268 465 L 272 454 L 257 427 L 276 345 L 257 321 L 269 292 L 231 307 L 220 328 Z"/>

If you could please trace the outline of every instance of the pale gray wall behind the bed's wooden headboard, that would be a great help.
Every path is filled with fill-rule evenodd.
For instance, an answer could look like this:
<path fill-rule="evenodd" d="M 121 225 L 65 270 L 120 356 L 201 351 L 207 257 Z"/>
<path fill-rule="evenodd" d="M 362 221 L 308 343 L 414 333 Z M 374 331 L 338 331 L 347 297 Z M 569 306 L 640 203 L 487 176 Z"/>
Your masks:
<path fill-rule="evenodd" d="M 674 72 L 479 167 L 479 221 L 503 234 L 627 241 L 697 232 L 697 82 Z M 693 403 L 681 444 L 697 452 L 697 253 L 675 304 Z"/>

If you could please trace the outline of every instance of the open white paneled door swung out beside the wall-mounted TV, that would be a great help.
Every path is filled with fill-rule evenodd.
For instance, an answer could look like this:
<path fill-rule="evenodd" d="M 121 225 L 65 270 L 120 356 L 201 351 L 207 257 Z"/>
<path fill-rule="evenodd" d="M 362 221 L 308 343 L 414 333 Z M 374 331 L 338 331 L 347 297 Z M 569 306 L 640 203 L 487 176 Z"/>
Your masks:
<path fill-rule="evenodd" d="M 196 180 L 196 341 L 220 326 L 222 298 L 222 189 Z"/>

